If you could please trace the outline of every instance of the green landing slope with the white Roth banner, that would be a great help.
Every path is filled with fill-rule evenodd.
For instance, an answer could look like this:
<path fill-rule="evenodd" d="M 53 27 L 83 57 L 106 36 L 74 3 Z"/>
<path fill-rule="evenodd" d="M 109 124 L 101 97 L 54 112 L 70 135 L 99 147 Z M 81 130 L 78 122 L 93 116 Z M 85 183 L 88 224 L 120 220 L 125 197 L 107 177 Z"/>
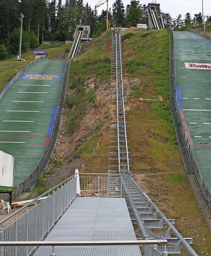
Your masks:
<path fill-rule="evenodd" d="M 211 192 L 211 41 L 173 32 L 176 95 L 186 136 Z"/>

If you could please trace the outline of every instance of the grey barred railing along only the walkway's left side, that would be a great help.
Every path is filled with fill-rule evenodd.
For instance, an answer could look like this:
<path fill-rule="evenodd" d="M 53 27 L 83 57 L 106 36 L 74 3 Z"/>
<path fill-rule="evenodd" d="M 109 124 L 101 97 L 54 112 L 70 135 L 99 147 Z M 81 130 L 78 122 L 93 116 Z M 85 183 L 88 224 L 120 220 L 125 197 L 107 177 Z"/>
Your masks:
<path fill-rule="evenodd" d="M 0 222 L 0 241 L 40 241 L 49 233 L 76 197 L 76 177 L 64 182 L 32 200 Z M 33 206 L 30 206 L 32 205 Z M 19 218 L 17 214 L 25 210 Z M 10 225 L 7 225 L 14 218 Z M 0 246 L 1 256 L 29 255 L 35 246 Z"/>

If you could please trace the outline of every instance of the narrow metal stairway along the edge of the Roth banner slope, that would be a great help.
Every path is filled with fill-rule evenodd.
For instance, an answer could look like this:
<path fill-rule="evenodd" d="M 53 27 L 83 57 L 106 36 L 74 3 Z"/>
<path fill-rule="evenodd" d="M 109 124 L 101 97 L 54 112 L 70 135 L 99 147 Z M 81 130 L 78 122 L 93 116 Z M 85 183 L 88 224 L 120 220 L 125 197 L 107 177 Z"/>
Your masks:
<path fill-rule="evenodd" d="M 194 173 L 194 168 L 190 159 L 190 155 L 188 153 L 188 150 L 186 148 L 185 140 L 183 137 L 183 134 L 180 129 L 178 116 L 176 114 L 175 110 L 175 65 L 174 65 L 174 54 L 173 54 L 173 46 L 172 46 L 172 40 L 170 38 L 169 40 L 169 84 L 170 84 L 170 112 L 172 116 L 172 121 L 179 145 L 179 149 L 181 152 L 182 160 L 184 163 L 185 170 L 188 174 Z"/>

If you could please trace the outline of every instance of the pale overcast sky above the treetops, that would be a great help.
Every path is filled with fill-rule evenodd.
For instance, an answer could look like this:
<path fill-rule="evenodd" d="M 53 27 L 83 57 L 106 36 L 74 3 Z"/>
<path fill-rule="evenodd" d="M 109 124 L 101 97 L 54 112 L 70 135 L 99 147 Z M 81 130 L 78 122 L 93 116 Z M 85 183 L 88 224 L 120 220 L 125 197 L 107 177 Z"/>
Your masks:
<path fill-rule="evenodd" d="M 94 9 L 95 5 L 99 0 L 83 0 L 84 4 L 88 2 L 91 5 L 91 8 Z M 105 0 L 102 0 L 103 3 Z M 108 0 L 108 8 L 111 7 L 115 2 L 115 0 Z M 130 4 L 130 0 L 122 0 L 124 7 Z M 140 4 L 152 3 L 152 0 L 139 0 Z M 63 0 L 65 3 L 65 0 Z M 172 18 L 176 18 L 179 14 L 182 14 L 183 18 L 186 13 L 191 13 L 192 18 L 194 14 L 201 12 L 202 13 L 202 0 L 157 0 L 157 3 L 160 4 L 160 8 L 162 12 L 169 13 Z M 203 0 L 204 6 L 204 15 L 211 16 L 211 0 Z M 102 6 L 98 7 L 98 14 L 102 12 L 102 10 L 106 10 L 106 3 Z"/>

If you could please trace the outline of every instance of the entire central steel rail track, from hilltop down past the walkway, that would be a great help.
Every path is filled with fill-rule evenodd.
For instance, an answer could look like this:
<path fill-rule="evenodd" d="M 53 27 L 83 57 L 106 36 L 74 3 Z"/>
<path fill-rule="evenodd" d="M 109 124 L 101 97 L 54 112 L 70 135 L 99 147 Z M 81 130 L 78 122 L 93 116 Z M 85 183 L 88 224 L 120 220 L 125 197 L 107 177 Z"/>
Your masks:
<path fill-rule="evenodd" d="M 181 245 L 183 245 L 190 255 L 196 256 L 198 254 L 190 246 L 192 238 L 184 238 L 173 226 L 174 220 L 168 220 L 130 176 L 122 81 L 121 32 L 118 29 L 112 32 L 111 75 L 109 172 L 123 174 L 123 190 L 137 239 L 168 240 L 167 245 L 164 246 L 146 245 L 144 255 L 181 253 Z"/>

